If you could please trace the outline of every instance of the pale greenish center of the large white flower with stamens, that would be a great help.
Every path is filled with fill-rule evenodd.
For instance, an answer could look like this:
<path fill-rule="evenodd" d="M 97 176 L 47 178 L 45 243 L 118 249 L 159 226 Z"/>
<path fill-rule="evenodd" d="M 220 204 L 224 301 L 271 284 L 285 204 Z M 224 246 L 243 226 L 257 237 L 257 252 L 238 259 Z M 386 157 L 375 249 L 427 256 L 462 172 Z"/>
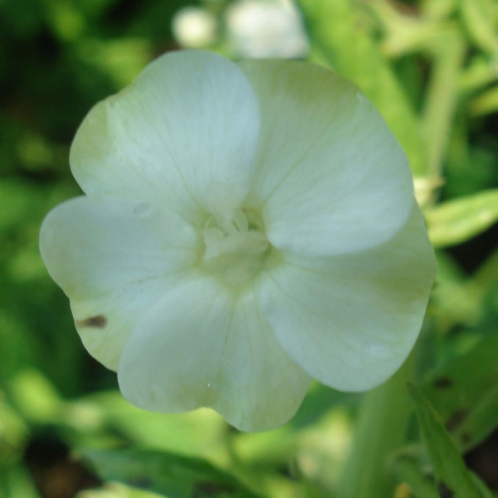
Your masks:
<path fill-rule="evenodd" d="M 231 286 L 244 285 L 254 277 L 269 249 L 261 219 L 244 209 L 211 216 L 202 235 L 203 266 Z"/>

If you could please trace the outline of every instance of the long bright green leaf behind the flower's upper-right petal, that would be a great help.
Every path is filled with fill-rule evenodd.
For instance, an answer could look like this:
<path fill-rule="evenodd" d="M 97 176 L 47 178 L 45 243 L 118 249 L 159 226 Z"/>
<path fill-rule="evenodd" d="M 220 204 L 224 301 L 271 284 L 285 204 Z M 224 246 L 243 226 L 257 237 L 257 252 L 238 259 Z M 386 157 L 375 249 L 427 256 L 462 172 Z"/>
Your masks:
<path fill-rule="evenodd" d="M 312 55 L 352 80 L 391 127 L 413 173 L 427 172 L 420 130 L 413 110 L 377 44 L 358 27 L 349 0 L 298 0 L 311 38 Z"/>

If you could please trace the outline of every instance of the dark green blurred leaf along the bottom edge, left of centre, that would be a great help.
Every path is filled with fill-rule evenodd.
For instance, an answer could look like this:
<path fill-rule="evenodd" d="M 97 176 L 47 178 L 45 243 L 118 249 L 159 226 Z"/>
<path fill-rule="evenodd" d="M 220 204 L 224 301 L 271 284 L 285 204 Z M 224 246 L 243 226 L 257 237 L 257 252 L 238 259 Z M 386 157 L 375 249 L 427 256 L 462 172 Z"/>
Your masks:
<path fill-rule="evenodd" d="M 87 450 L 81 458 L 104 481 L 118 481 L 168 498 L 257 498 L 233 476 L 198 458 L 131 449 Z"/>

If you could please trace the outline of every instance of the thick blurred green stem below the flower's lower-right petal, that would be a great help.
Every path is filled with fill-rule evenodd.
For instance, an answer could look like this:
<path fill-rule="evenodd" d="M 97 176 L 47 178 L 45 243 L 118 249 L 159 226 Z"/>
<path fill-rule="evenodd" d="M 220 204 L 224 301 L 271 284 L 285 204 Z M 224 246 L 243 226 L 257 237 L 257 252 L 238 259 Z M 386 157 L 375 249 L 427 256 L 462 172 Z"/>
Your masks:
<path fill-rule="evenodd" d="M 365 394 L 351 453 L 343 470 L 338 498 L 386 498 L 394 494 L 388 456 L 404 439 L 411 406 L 406 383 L 414 352 L 384 384 Z"/>

